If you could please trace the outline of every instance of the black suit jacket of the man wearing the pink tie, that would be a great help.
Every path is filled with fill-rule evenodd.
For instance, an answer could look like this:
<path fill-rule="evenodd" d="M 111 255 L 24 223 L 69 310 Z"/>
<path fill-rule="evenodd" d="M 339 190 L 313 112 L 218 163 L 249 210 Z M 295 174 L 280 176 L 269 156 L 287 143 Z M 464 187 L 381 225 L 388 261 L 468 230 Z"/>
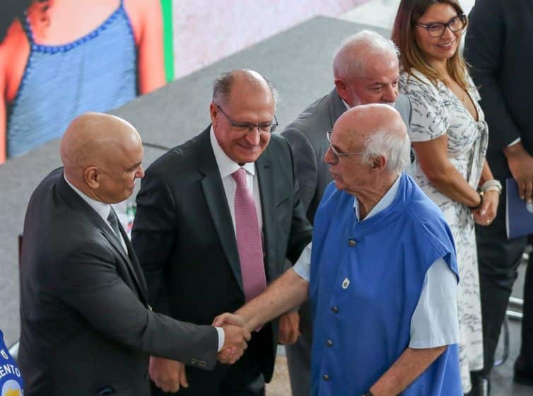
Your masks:
<path fill-rule="evenodd" d="M 133 245 L 154 309 L 173 318 L 210 324 L 245 303 L 235 231 L 221 175 L 204 132 L 172 148 L 147 170 L 137 195 Z M 262 202 L 266 280 L 283 272 L 310 242 L 288 142 L 272 135 L 256 163 Z M 263 373 L 271 378 L 277 326 Z M 246 352 L 247 353 L 247 352 Z"/>

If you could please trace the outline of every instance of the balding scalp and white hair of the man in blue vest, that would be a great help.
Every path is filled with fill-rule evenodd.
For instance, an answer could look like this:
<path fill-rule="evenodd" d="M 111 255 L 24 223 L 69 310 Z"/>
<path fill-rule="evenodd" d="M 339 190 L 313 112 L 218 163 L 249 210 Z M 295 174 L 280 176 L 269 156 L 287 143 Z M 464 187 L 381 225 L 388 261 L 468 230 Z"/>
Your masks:
<path fill-rule="evenodd" d="M 363 162 L 383 157 L 386 169 L 397 174 L 409 163 L 410 142 L 402 117 L 389 105 L 353 107 L 335 123 L 341 139 L 352 147 L 364 148 Z"/>

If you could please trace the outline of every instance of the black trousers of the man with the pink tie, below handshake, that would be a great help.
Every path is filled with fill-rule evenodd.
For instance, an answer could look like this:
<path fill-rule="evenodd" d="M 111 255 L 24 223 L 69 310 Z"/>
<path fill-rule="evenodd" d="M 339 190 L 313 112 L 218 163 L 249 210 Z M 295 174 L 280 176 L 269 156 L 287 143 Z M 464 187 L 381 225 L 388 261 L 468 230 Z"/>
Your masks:
<path fill-rule="evenodd" d="M 180 388 L 175 394 L 163 392 L 152 386 L 152 395 L 180 396 L 264 396 L 262 374 L 266 356 L 271 354 L 272 335 L 269 326 L 252 333 L 245 354 L 233 365 L 217 363 L 213 371 L 186 367 L 189 388 Z"/>

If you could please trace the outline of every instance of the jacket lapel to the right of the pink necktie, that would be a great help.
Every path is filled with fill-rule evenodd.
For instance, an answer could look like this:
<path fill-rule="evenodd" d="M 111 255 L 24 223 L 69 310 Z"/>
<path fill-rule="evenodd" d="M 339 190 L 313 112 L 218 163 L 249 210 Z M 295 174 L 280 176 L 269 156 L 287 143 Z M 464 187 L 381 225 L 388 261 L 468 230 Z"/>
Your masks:
<path fill-rule="evenodd" d="M 264 262 L 266 263 L 266 280 L 272 279 L 275 269 L 272 260 L 276 257 L 276 232 L 274 231 L 274 175 L 272 175 L 270 151 L 268 148 L 255 161 L 257 171 L 257 184 L 261 195 L 261 208 L 263 215 L 264 235 Z"/>

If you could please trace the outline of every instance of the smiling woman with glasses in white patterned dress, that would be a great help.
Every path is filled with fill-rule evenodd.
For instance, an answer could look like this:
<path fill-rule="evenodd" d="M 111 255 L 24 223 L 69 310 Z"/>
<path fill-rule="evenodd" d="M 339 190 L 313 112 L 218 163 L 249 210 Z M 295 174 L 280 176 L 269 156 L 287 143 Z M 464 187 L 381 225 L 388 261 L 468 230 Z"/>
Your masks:
<path fill-rule="evenodd" d="M 456 0 L 402 0 L 392 33 L 402 64 L 400 91 L 412 105 L 414 177 L 442 209 L 455 239 L 465 393 L 472 388 L 469 371 L 483 368 L 474 221 L 493 221 L 501 190 L 485 160 L 488 130 L 479 94 L 458 50 L 466 25 Z"/>

